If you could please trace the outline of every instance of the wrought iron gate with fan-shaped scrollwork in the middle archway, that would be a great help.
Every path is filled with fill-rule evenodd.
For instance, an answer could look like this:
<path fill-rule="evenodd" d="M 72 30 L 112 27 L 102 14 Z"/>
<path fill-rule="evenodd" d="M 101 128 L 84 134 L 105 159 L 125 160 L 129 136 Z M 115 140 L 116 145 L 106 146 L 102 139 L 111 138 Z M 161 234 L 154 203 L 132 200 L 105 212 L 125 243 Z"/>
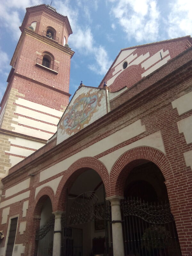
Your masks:
<path fill-rule="evenodd" d="M 106 202 L 100 203 L 98 196 L 95 195 L 95 192 L 96 191 L 89 191 L 80 194 L 76 198 L 69 198 L 69 200 L 71 199 L 73 203 L 70 210 L 66 211 L 68 212 L 67 215 L 62 216 L 61 221 L 61 256 L 83 256 L 83 230 L 81 228 L 76 228 L 76 225 L 91 221 L 103 221 L 102 224 L 105 228 L 105 237 L 101 238 L 104 248 L 104 252 L 102 252 L 102 254 L 112 255 L 109 254 L 109 247 L 112 248 L 112 243 L 110 242 L 109 246 L 108 240 L 110 206 L 108 206 Z M 94 246 L 92 250 L 93 254 L 99 253 L 94 251 Z"/>

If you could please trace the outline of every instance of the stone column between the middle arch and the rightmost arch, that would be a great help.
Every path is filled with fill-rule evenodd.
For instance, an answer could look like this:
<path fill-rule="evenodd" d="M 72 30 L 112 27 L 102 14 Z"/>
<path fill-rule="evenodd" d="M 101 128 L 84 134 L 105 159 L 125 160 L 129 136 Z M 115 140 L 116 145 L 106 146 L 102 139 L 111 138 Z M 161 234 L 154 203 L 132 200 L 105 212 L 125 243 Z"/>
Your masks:
<path fill-rule="evenodd" d="M 113 255 L 124 256 L 123 228 L 121 219 L 120 200 L 122 196 L 110 196 L 106 200 L 111 202 Z"/>

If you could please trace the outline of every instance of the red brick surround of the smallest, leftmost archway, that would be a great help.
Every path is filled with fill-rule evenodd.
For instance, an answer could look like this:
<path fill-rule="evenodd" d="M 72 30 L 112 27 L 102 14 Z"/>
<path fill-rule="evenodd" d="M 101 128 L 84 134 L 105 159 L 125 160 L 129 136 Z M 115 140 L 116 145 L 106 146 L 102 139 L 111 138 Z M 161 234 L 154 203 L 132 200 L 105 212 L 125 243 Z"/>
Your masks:
<path fill-rule="evenodd" d="M 51 187 L 44 187 L 42 188 L 36 195 L 34 203 L 31 207 L 31 214 L 32 216 L 40 216 L 43 204 L 47 197 L 50 198 L 52 204 L 52 210 L 54 212 L 54 205 L 55 205 L 55 195 Z"/>

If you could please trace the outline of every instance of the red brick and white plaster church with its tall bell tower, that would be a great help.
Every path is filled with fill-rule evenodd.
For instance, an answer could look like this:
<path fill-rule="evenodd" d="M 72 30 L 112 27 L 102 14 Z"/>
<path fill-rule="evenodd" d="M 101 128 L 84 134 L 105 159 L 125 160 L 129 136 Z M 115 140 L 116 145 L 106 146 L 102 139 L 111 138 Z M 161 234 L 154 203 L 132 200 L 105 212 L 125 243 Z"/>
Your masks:
<path fill-rule="evenodd" d="M 26 8 L 1 102 L 0 256 L 192 255 L 192 39 L 122 49 L 69 102 L 72 33 Z"/>

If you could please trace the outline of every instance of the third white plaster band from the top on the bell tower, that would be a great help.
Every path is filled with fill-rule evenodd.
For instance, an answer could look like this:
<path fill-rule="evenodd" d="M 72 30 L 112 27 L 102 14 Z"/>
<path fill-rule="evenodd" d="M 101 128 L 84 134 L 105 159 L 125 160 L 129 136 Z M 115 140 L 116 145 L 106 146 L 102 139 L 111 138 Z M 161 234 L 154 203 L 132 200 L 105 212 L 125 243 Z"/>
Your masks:
<path fill-rule="evenodd" d="M 50 118 L 51 119 L 51 118 Z M 18 116 L 18 118 L 14 118 L 13 117 L 13 121 L 18 122 L 19 124 L 24 124 L 24 125 L 28 125 L 31 127 L 35 127 L 44 131 L 48 131 L 48 132 L 56 132 L 57 131 L 57 126 L 51 125 L 51 124 L 45 124 L 42 123 L 40 121 L 35 121 L 23 116 Z"/>

